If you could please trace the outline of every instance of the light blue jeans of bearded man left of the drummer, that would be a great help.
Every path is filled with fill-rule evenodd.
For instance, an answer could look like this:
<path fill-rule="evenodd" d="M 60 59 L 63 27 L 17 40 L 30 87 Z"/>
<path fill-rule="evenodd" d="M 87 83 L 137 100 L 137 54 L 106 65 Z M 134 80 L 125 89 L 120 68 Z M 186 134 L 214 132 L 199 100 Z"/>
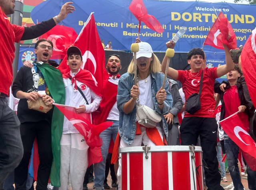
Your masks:
<path fill-rule="evenodd" d="M 107 120 L 112 121 L 112 120 Z M 106 159 L 108 157 L 108 148 L 111 141 L 116 141 L 116 136 L 118 133 L 119 121 L 112 121 L 114 124 L 108 127 L 105 131 L 100 133 L 100 138 L 102 138 L 102 162 L 94 164 L 94 187 L 96 190 L 104 190 L 103 183 L 105 180 L 105 168 L 106 168 Z"/>

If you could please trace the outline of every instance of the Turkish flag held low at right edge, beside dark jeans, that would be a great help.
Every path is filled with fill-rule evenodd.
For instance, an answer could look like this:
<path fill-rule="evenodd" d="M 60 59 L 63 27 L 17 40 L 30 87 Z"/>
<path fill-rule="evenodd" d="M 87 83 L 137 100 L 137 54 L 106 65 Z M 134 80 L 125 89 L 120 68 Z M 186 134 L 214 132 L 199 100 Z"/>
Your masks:
<path fill-rule="evenodd" d="M 256 143 L 246 131 L 246 128 L 243 126 L 237 113 L 220 121 L 220 125 L 234 143 L 236 143 L 244 152 L 247 152 L 250 156 L 256 158 Z"/>

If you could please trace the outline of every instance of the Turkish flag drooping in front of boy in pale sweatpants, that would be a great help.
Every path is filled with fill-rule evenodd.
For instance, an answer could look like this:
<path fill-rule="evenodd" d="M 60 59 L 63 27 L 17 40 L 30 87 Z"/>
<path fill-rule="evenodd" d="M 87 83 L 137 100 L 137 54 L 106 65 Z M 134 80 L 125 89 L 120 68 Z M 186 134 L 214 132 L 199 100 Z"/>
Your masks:
<path fill-rule="evenodd" d="M 102 146 L 102 139 L 99 134 L 113 125 L 113 122 L 104 122 L 100 125 L 92 125 L 91 115 L 89 113 L 76 113 L 74 107 L 56 104 L 54 105 L 64 114 L 74 127 L 84 136 L 86 144 L 89 146 L 88 162 L 89 165 L 102 161 L 102 154 L 100 147 Z"/>

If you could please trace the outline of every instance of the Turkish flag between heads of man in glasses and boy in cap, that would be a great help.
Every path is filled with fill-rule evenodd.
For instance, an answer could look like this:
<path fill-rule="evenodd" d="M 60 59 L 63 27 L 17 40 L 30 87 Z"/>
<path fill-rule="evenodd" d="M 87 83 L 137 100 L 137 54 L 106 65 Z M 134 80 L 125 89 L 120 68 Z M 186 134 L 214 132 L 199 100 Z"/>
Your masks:
<path fill-rule="evenodd" d="M 76 31 L 68 26 L 56 25 L 54 28 L 43 34 L 38 40 L 45 38 L 52 41 L 53 50 L 51 59 L 63 59 L 67 49 L 76 41 Z"/>

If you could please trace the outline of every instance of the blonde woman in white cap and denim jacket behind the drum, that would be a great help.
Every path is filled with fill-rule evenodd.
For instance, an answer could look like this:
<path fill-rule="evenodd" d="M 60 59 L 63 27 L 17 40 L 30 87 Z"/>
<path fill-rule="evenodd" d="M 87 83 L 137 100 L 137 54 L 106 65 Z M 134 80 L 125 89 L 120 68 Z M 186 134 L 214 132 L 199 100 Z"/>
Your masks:
<path fill-rule="evenodd" d="M 120 148 L 129 146 L 149 146 L 166 144 L 168 126 L 164 115 L 172 107 L 172 96 L 169 83 L 166 80 L 164 89 L 162 83 L 164 75 L 160 73 L 161 64 L 153 53 L 150 44 L 140 42 L 137 53 L 138 83 L 134 85 L 134 60 L 131 61 L 128 72 L 122 75 L 118 83 L 117 107 L 119 110 Z M 161 116 L 162 121 L 156 123 L 155 128 L 139 125 L 136 119 L 136 101 L 146 105 Z M 120 163 L 120 162 L 119 162 Z M 118 180 L 120 182 L 120 164 Z M 120 189 L 120 183 L 118 188 Z"/>

